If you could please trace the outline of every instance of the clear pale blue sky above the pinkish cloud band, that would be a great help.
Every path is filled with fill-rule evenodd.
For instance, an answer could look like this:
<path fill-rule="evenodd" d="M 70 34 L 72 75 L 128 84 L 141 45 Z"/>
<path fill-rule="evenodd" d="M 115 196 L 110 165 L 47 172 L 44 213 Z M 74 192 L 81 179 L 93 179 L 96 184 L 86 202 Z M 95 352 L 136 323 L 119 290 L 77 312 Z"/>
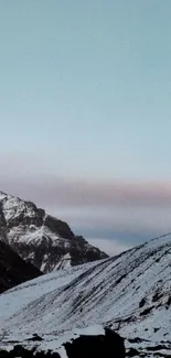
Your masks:
<path fill-rule="evenodd" d="M 13 159 L 13 175 L 33 181 L 35 169 L 67 180 L 169 181 L 170 19 L 170 0 L 1 0 L 7 182 Z"/>

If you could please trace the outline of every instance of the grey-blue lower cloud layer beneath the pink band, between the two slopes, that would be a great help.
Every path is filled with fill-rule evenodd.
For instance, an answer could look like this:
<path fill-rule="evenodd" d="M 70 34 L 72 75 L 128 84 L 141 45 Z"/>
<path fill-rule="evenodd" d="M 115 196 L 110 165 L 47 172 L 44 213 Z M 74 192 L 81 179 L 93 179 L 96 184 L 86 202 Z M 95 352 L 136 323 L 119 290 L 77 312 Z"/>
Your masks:
<path fill-rule="evenodd" d="M 170 208 L 61 208 L 49 207 L 52 215 L 66 220 L 85 238 L 115 239 L 138 245 L 171 231 Z"/>

